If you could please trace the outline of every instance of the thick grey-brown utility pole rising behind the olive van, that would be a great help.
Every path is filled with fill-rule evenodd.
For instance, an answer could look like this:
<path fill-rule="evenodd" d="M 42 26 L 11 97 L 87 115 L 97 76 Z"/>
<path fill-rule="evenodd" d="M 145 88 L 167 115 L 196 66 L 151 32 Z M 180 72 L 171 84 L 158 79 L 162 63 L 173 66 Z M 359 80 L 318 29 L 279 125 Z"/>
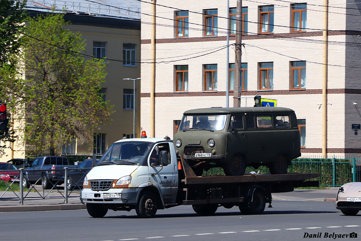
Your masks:
<path fill-rule="evenodd" d="M 233 107 L 241 105 L 242 31 L 242 0 L 237 0 Z"/>

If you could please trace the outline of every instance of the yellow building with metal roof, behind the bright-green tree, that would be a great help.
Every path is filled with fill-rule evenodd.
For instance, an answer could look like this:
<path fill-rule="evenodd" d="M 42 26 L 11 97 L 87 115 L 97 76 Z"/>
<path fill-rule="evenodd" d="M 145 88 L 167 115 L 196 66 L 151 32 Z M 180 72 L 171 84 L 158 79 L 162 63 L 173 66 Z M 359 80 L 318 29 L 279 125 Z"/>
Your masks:
<path fill-rule="evenodd" d="M 31 16 L 36 16 L 48 12 L 53 2 L 29 1 L 26 8 Z M 86 40 L 86 55 L 108 59 L 105 69 L 107 76 L 99 94 L 113 106 L 114 113 L 107 124 L 94 130 L 93 143 L 75 138 L 72 143 L 59 143 L 57 154 L 103 154 L 113 142 L 123 137 L 130 138 L 133 134 L 140 137 L 140 79 L 137 79 L 140 77 L 140 4 L 135 0 L 108 0 L 107 4 L 114 6 L 108 7 L 100 3 L 79 2 L 82 1 L 69 5 L 70 1 L 57 0 L 57 5 L 68 4 L 66 13 L 58 6 L 58 14 L 63 14 L 64 19 L 71 22 L 67 26 L 69 30 L 82 34 Z M 44 7 L 44 3 L 47 7 Z M 122 7 L 126 9 L 120 10 Z M 13 150 L 6 149 L 6 154 L 0 156 L 0 162 L 26 158 L 29 148 L 22 138 L 21 125 L 22 120 L 14 119 L 18 139 L 12 145 Z"/>

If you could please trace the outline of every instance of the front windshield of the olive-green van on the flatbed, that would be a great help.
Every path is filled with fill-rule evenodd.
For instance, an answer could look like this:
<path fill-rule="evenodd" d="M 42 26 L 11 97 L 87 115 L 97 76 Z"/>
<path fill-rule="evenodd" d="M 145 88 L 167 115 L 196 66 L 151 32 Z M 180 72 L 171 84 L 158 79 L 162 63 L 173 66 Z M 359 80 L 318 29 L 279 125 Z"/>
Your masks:
<path fill-rule="evenodd" d="M 179 124 L 179 131 L 187 130 L 223 130 L 227 115 L 185 115 Z"/>

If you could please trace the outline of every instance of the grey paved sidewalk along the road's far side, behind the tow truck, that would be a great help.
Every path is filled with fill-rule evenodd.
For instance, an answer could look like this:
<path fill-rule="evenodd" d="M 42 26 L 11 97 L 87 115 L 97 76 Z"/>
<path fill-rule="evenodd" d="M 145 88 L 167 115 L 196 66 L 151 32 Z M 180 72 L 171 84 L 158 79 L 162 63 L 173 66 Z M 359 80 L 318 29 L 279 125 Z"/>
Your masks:
<path fill-rule="evenodd" d="M 43 195 L 43 190 L 38 190 Z M 64 191 L 60 190 L 64 195 Z M 335 202 L 338 188 L 330 189 L 297 189 L 289 193 L 274 193 L 273 200 L 287 200 L 287 201 L 329 201 Z M 0 191 L 0 196 L 4 191 Z M 45 192 L 45 199 L 40 197 L 39 193 L 30 192 L 24 193 L 23 205 L 20 205 L 20 200 L 13 192 L 7 191 L 3 197 L 0 198 L 0 212 L 20 212 L 20 211 L 51 211 L 51 210 L 76 210 L 86 209 L 86 205 L 80 202 L 79 190 L 75 190 L 68 197 L 68 203 L 65 203 L 65 198 L 57 191 L 51 193 Z M 19 195 L 19 192 L 16 192 Z"/>

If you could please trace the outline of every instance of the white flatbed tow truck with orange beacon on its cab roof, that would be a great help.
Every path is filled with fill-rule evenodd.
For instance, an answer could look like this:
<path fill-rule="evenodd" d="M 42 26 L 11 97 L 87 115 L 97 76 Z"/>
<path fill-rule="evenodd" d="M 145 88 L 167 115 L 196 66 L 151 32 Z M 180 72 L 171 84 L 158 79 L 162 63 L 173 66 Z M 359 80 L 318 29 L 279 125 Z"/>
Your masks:
<path fill-rule="evenodd" d="M 271 193 L 318 186 L 318 181 L 305 180 L 319 176 L 196 176 L 168 136 L 146 138 L 144 132 L 142 138 L 121 139 L 109 147 L 84 178 L 80 199 L 94 218 L 104 217 L 108 210 L 132 209 L 141 218 L 151 218 L 158 209 L 179 205 L 192 205 L 203 215 L 213 214 L 219 206 L 238 206 L 245 215 L 261 214 L 266 203 L 271 207 Z"/>

